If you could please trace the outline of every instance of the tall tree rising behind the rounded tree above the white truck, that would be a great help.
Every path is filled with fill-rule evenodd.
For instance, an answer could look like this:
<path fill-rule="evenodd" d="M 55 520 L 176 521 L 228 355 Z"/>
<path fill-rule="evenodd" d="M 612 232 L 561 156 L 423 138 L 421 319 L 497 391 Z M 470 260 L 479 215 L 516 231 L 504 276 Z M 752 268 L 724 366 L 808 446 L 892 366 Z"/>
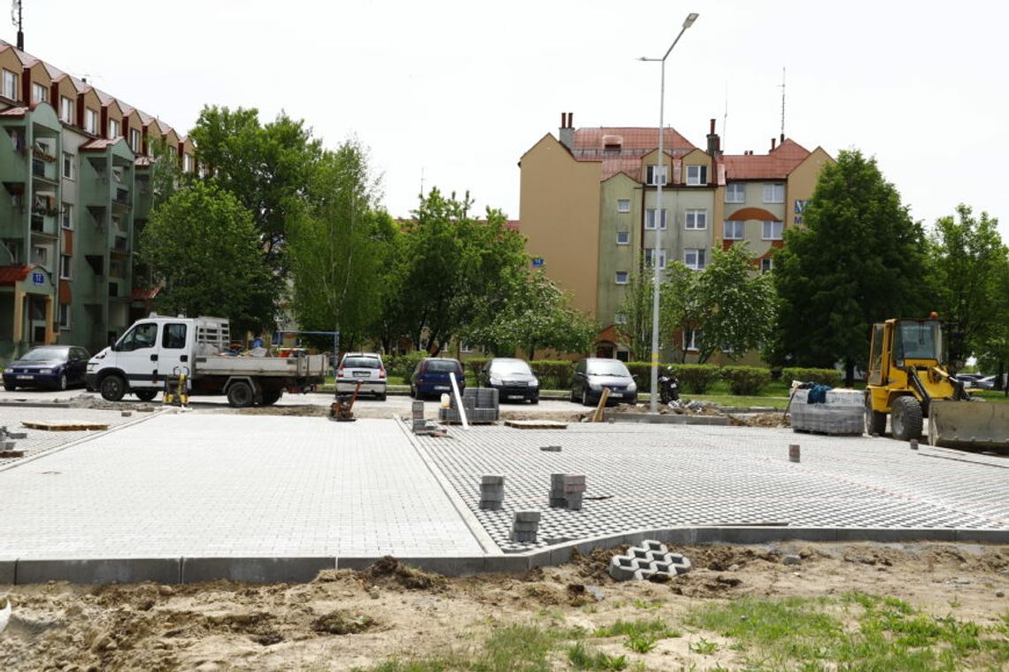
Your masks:
<path fill-rule="evenodd" d="M 270 266 L 286 272 L 288 228 L 305 213 L 307 191 L 322 158 L 320 140 L 284 112 L 260 125 L 255 109 L 207 106 L 190 136 L 208 179 L 252 213 Z"/>

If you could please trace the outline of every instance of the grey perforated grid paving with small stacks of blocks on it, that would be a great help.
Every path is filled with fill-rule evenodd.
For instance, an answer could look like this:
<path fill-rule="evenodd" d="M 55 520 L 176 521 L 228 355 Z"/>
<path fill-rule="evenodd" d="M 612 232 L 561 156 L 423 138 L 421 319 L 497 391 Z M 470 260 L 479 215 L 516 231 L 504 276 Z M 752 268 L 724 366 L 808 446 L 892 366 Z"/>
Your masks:
<path fill-rule="evenodd" d="M 556 431 L 453 428 L 417 437 L 506 552 L 676 526 L 1009 529 L 1009 459 L 869 437 L 713 426 L 581 424 Z M 788 445 L 802 461 L 788 461 Z M 560 452 L 541 447 L 560 445 Z M 550 474 L 584 473 L 581 511 L 551 509 Z M 480 474 L 504 474 L 500 511 L 479 508 Z M 535 544 L 511 540 L 540 510 Z"/>

